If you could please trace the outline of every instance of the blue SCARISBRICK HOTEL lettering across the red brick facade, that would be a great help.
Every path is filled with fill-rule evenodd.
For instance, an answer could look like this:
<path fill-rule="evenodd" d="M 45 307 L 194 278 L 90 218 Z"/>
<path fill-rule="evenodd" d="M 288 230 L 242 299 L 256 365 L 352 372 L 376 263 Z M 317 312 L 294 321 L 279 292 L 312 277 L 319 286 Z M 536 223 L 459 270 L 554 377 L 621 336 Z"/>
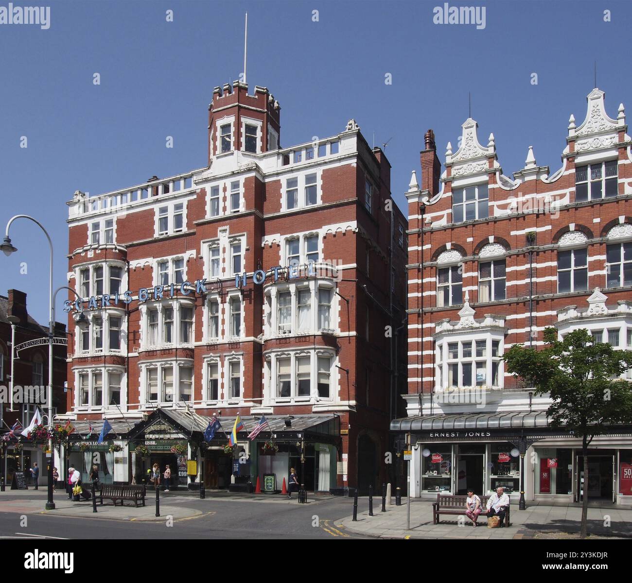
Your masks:
<path fill-rule="evenodd" d="M 305 275 L 307 277 L 311 277 L 316 275 L 316 270 L 314 266 L 314 262 L 310 261 L 305 269 Z M 298 279 L 301 276 L 300 268 L 298 265 L 291 265 L 286 268 L 288 279 Z M 281 277 L 283 277 L 283 273 L 279 273 L 284 270 L 281 265 L 276 265 L 275 267 L 270 268 L 270 273 L 272 275 L 272 280 L 276 283 Z M 252 282 L 256 285 L 264 284 L 265 280 L 268 277 L 268 273 L 262 269 L 257 269 L 252 274 Z M 241 275 L 238 273 L 235 275 L 235 287 L 245 287 L 248 284 L 248 273 L 244 272 Z M 191 294 L 195 294 L 197 296 L 204 296 L 209 291 L 214 291 L 216 287 L 214 287 L 214 282 L 208 282 L 206 278 L 197 279 L 195 282 L 191 283 L 190 281 L 182 282 L 180 285 L 169 284 L 169 285 L 154 285 L 154 287 L 141 287 L 138 289 L 136 294 L 132 294 L 130 290 L 124 293 L 116 293 L 116 294 L 102 294 L 102 296 L 90 296 L 90 298 L 77 298 L 74 302 L 70 299 L 66 299 L 64 301 L 64 311 L 70 312 L 70 310 L 75 308 L 76 311 L 81 311 L 83 309 L 83 305 L 87 303 L 88 310 L 99 310 L 100 308 L 106 308 L 107 306 L 116 306 L 120 303 L 130 304 L 134 300 L 134 295 L 138 296 L 139 302 L 146 302 L 149 299 L 159 300 L 163 298 L 174 298 L 176 294 L 179 292 L 181 296 L 190 296 Z M 100 300 L 100 305 L 97 304 L 97 300 Z"/>

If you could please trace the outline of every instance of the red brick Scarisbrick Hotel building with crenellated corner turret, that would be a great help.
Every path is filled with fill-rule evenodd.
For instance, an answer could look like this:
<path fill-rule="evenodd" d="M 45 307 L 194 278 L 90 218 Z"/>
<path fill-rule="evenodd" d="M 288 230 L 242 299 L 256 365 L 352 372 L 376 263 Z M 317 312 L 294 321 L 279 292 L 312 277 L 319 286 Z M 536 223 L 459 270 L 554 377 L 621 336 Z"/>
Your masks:
<path fill-rule="evenodd" d="M 207 487 L 272 472 L 280 488 L 300 467 L 301 440 L 307 490 L 384 479 L 404 392 L 395 363 L 401 383 L 406 366 L 406 220 L 391 167 L 353 119 L 339 135 L 281 148 L 280 112 L 267 88 L 217 87 L 202 169 L 68 203 L 69 285 L 90 320 L 80 332 L 69 318 L 68 410 L 83 434 L 111 422 L 123 450 L 102 452 L 106 481 L 154 460 L 181 467 L 171 446 L 199 440 L 213 414 L 226 432 L 240 414 L 250 464 L 231 478 L 218 432 Z M 272 431 L 248 442 L 262 415 Z M 265 440 L 276 455 L 260 455 Z"/>

